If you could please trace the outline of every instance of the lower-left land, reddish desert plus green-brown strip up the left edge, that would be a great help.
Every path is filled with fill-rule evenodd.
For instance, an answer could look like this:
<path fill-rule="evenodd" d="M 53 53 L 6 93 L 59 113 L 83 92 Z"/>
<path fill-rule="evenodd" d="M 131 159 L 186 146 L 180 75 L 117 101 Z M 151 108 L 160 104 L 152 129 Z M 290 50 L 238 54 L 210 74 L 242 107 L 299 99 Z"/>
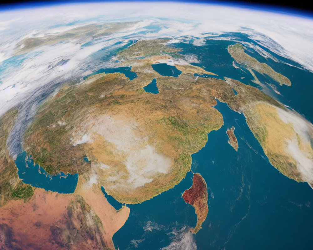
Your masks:
<path fill-rule="evenodd" d="M 130 209 L 116 211 L 82 176 L 73 194 L 24 184 L 6 142 L 17 110 L 0 118 L 0 249 L 115 249 Z"/>

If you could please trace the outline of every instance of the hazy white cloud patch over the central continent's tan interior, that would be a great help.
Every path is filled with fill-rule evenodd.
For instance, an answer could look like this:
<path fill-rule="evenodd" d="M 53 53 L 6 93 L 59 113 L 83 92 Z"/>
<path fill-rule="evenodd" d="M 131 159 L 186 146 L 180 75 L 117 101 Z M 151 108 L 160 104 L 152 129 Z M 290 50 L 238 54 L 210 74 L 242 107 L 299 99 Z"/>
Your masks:
<path fill-rule="evenodd" d="M 128 172 L 127 183 L 123 179 L 116 178 L 116 184 L 135 189 L 150 183 L 159 173 L 168 173 L 172 166 L 171 158 L 158 153 L 154 146 L 148 144 L 148 138 L 138 134 L 141 129 L 134 119 L 109 115 L 96 118 L 87 116 L 80 124 L 79 130 L 74 132 L 73 137 L 76 139 L 72 143 L 74 146 L 80 143 L 91 143 L 93 138 L 99 138 L 99 135 L 103 140 L 111 143 L 115 158 L 122 159 L 121 163 L 125 165 Z M 92 165 L 92 168 L 97 169 L 98 166 L 103 170 L 114 171 L 114 166 L 104 163 Z M 112 177 L 116 173 L 110 173 L 110 181 L 113 179 L 115 181 Z"/>

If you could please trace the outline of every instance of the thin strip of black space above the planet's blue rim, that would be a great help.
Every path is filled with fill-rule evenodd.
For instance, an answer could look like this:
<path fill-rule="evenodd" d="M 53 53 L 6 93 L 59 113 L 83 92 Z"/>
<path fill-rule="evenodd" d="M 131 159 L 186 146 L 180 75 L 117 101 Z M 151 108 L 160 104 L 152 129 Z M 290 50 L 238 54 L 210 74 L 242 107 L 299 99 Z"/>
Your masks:
<path fill-rule="evenodd" d="M 100 0 L 95 0 L 96 2 L 105 2 L 100 1 Z M 118 0 L 111 0 L 111 1 L 116 1 Z M 123 0 L 125 1 L 125 0 Z M 131 1 L 131 0 L 126 0 L 126 1 Z M 138 1 L 138 0 L 137 0 Z M 145 0 L 143 0 L 145 1 Z M 149 1 L 149 0 L 148 0 Z M 153 0 L 150 0 L 153 1 Z M 160 0 L 155 0 L 155 1 L 160 1 Z M 166 1 L 166 0 L 162 0 Z M 172 0 L 174 2 L 180 2 L 180 0 Z M 49 1 L 49 0 L 44 0 L 44 1 L 23 1 L 23 0 L 3 0 L 0 1 L 0 8 L 3 7 L 5 9 L 13 9 L 13 8 L 18 8 L 18 7 L 25 7 L 28 5 L 28 3 L 32 4 L 53 4 L 53 3 L 61 3 L 61 2 L 89 2 L 88 0 L 54 0 L 54 1 Z M 90 1 L 92 2 L 92 1 Z M 239 4 L 239 5 L 244 5 L 247 7 L 252 7 L 252 8 L 262 8 L 262 5 L 266 7 L 273 7 L 276 10 L 282 10 L 285 11 L 287 9 L 293 9 L 293 10 L 298 10 L 298 11 L 304 11 L 304 12 L 309 12 L 309 14 L 313 15 L 313 0 L 250 0 L 250 1 L 244 1 L 244 0 L 225 0 L 225 1 L 219 1 L 219 0 L 213 0 L 213 1 L 208 1 L 208 0 L 182 0 L 182 2 L 214 2 L 214 3 L 225 3 L 228 2 L 230 4 Z"/>

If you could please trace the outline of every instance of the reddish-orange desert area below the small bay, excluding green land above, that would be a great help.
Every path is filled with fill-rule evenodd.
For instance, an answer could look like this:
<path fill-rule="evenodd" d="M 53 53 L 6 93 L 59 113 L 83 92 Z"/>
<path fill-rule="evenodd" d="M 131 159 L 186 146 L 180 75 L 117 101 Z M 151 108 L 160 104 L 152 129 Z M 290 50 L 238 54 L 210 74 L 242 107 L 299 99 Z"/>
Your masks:
<path fill-rule="evenodd" d="M 115 249 L 112 236 L 129 208 L 116 212 L 103 195 L 89 194 L 86 201 L 36 188 L 27 202 L 8 202 L 0 207 L 0 248 Z"/>

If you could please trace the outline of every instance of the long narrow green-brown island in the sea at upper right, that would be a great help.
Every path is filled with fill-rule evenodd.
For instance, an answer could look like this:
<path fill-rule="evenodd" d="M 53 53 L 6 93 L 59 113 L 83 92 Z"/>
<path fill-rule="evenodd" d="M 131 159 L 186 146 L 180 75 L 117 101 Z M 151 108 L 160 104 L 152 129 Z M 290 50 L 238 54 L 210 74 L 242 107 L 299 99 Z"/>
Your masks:
<path fill-rule="evenodd" d="M 280 85 L 285 84 L 287 86 L 291 86 L 291 82 L 287 77 L 283 76 L 280 73 L 277 73 L 266 63 L 260 63 L 257 59 L 249 56 L 247 53 L 244 52 L 244 49 L 245 48 L 244 46 L 242 46 L 241 43 L 236 43 L 235 45 L 228 46 L 228 52 L 230 53 L 232 58 L 236 60 L 237 63 L 244 65 L 249 70 L 254 69 L 261 74 L 268 75 Z M 256 78 L 255 75 L 254 78 Z M 257 80 L 257 78 L 255 80 Z"/>

